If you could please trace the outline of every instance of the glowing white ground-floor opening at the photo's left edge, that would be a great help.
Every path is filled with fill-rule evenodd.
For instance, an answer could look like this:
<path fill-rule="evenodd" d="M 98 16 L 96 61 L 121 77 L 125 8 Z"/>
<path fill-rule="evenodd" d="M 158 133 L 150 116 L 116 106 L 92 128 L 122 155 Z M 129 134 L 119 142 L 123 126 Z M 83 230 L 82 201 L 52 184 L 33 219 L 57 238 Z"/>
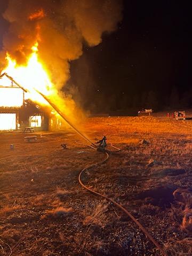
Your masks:
<path fill-rule="evenodd" d="M 0 130 L 15 130 L 15 129 L 16 129 L 16 114 L 0 113 Z"/>

